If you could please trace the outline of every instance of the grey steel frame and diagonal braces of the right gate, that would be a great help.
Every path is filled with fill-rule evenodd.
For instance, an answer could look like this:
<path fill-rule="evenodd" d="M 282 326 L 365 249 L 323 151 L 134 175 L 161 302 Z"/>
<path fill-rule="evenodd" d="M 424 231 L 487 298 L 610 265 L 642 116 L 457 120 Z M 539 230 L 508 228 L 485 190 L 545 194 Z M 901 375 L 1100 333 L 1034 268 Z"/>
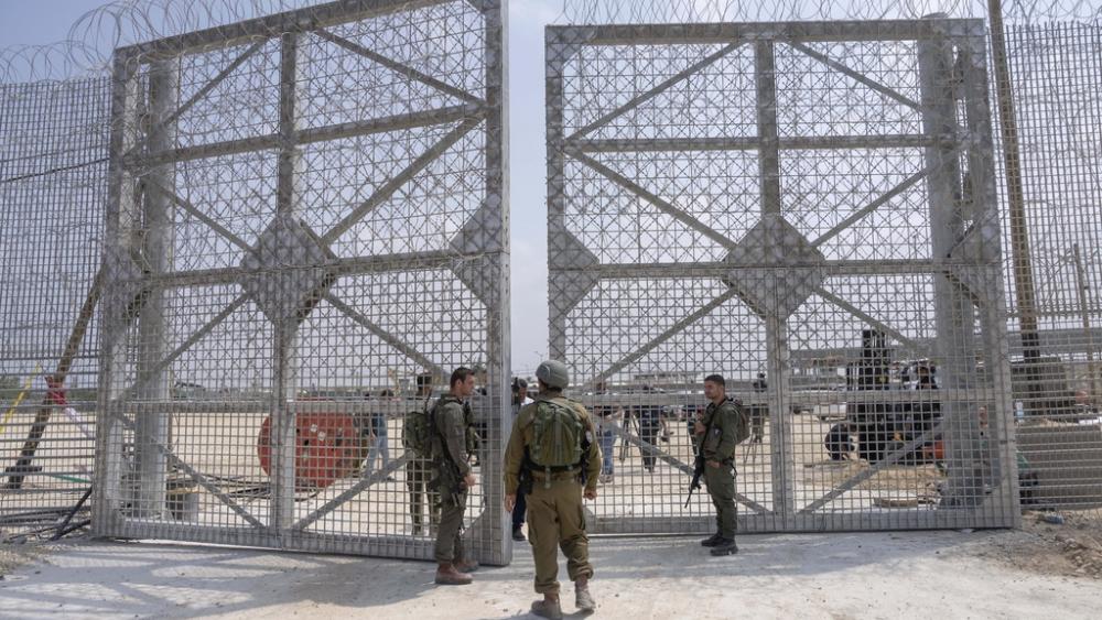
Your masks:
<path fill-rule="evenodd" d="M 894 89 L 862 76 L 854 69 L 841 63 L 831 61 L 802 43 L 807 42 L 847 42 L 847 41 L 916 41 L 916 53 L 919 58 L 919 75 L 922 84 L 922 102 L 910 101 Z M 922 112 L 923 132 L 908 135 L 847 135 L 843 138 L 793 137 L 781 138 L 777 134 L 776 118 L 776 83 L 774 66 L 774 44 L 789 44 L 819 62 L 840 70 L 851 78 L 906 104 Z M 564 73 L 566 64 L 582 46 L 599 45 L 671 45 L 671 44 L 726 44 L 723 48 L 701 58 L 695 64 L 661 81 L 646 93 L 636 93 L 626 104 L 617 106 L 584 128 L 566 135 L 564 129 Z M 750 138 L 687 138 L 687 139 L 585 139 L 585 134 L 598 129 L 623 112 L 629 111 L 648 99 L 661 94 L 673 84 L 684 79 L 713 64 L 728 52 L 742 46 L 755 47 L 755 83 L 757 85 L 758 135 Z M 795 489 L 788 480 L 793 478 L 792 428 L 787 417 L 791 415 L 790 405 L 795 403 L 840 404 L 844 402 L 892 402 L 901 401 L 904 394 L 892 393 L 846 393 L 836 392 L 801 392 L 793 393 L 789 382 L 789 349 L 782 335 L 785 317 L 770 313 L 765 319 L 767 368 L 770 376 L 768 399 L 748 395 L 744 399 L 750 404 L 768 404 L 770 425 L 777 432 L 780 440 L 770 442 L 774 511 L 763 512 L 748 498 L 736 496 L 738 501 L 755 511 L 749 516 L 739 515 L 739 527 L 744 531 L 825 531 L 825 530 L 889 530 L 889 529 L 943 529 L 943 527 L 1006 527 L 1020 523 L 1020 510 L 1017 488 L 1017 465 L 1014 458 L 1014 425 L 1012 418 L 1009 358 L 1006 346 L 1006 308 L 1003 295 L 1003 274 L 1000 251 L 1000 219 L 996 202 L 995 170 L 993 160 L 991 116 L 987 98 L 986 77 L 986 30 L 982 20 L 951 20 L 943 15 L 931 15 L 923 20 L 884 20 L 884 21 L 839 21 L 839 22 L 780 22 L 780 23 L 702 23 L 702 24 L 661 24 L 661 25 L 596 25 L 596 26 L 549 26 L 547 29 L 547 141 L 548 141 L 548 250 L 550 271 L 549 323 L 551 356 L 568 361 L 566 333 L 570 311 L 592 291 L 602 279 L 640 279 L 649 278 L 688 278 L 720 279 L 732 271 L 732 264 L 725 261 L 701 263 L 622 263 L 604 264 L 590 252 L 584 244 L 566 229 L 563 221 L 566 209 L 565 196 L 565 162 L 569 159 L 588 166 L 602 174 L 623 191 L 634 194 L 641 202 L 649 203 L 659 211 L 674 217 L 698 232 L 733 248 L 736 243 L 722 233 L 695 220 L 691 215 L 680 210 L 674 205 L 663 200 L 649 191 L 634 183 L 630 178 L 612 171 L 599 162 L 588 157 L 588 152 L 629 152 L 629 151 L 672 151 L 688 152 L 701 150 L 757 150 L 759 161 L 759 183 L 763 215 L 780 214 L 780 186 L 778 155 L 782 149 L 853 149 L 869 146 L 912 146 L 926 149 L 926 168 L 912 175 L 904 183 L 873 200 L 864 209 L 847 218 L 834 230 L 832 236 L 854 224 L 878 206 L 888 202 L 914 183 L 926 180 L 930 197 L 930 226 L 933 249 L 931 255 L 944 251 L 944 258 L 931 258 L 920 261 L 822 261 L 814 265 L 827 276 L 862 275 L 862 274 L 917 274 L 934 275 L 934 284 L 939 290 L 955 289 L 951 295 L 936 293 L 937 327 L 939 346 L 953 346 L 955 342 L 972 340 L 971 334 L 964 335 L 963 324 L 952 316 L 951 300 L 960 301 L 968 294 L 965 303 L 974 304 L 980 311 L 980 325 L 984 340 L 984 360 L 988 369 L 987 384 L 981 387 L 975 382 L 974 372 L 963 368 L 953 370 L 964 377 L 950 377 L 947 385 L 939 390 L 938 396 L 942 403 L 943 422 L 947 444 L 951 432 L 963 439 L 974 439 L 975 435 L 962 416 L 954 414 L 955 403 L 977 399 L 990 400 L 995 404 L 995 414 L 991 416 L 992 453 L 995 458 L 993 478 L 998 486 L 986 496 L 980 505 L 972 509 L 954 510 L 914 510 L 893 509 L 887 513 L 852 512 L 830 513 L 817 512 L 846 490 L 872 477 L 880 468 L 890 465 L 906 452 L 897 450 L 865 472 L 839 485 L 834 490 L 819 500 L 799 508 L 796 505 Z M 959 46 L 961 66 L 953 65 L 950 45 Z M 802 47 L 802 48 L 801 48 Z M 948 57 L 947 57 L 948 53 Z M 948 63 L 947 63 L 948 61 Z M 925 67 L 925 68 L 923 68 Z M 957 124 L 952 110 L 946 110 L 946 102 L 955 104 L 950 94 L 944 96 L 948 79 L 938 83 L 937 77 L 951 77 L 952 72 L 961 70 L 963 85 L 961 97 L 965 104 L 968 120 L 966 129 Z M 930 72 L 937 72 L 931 75 Z M 940 74 L 937 75 L 937 74 Z M 941 93 L 933 91 L 931 86 L 941 84 Z M 958 151 L 966 152 L 969 173 L 973 191 L 973 204 L 970 208 L 975 214 L 974 230 L 951 231 L 944 222 L 950 219 L 954 209 L 964 209 L 961 200 L 954 198 L 950 183 L 959 180 L 961 172 L 953 161 Z M 931 163 L 938 162 L 938 164 Z M 952 165 L 950 165 L 952 164 Z M 948 170 L 947 170 L 948 168 Z M 955 177 L 953 176 L 955 175 Z M 939 226 L 937 204 L 941 209 L 942 229 Z M 824 236 L 825 237 L 825 236 Z M 776 267 L 776 265 L 775 265 Z M 558 294 L 561 293 L 561 294 Z M 824 295 L 822 287 L 815 293 Z M 706 304 L 703 308 L 690 314 L 665 330 L 649 342 L 638 346 L 605 371 L 585 381 L 579 382 L 579 391 L 584 391 L 599 380 L 629 366 L 636 359 L 646 355 L 653 347 L 674 336 L 680 330 L 709 314 L 723 302 L 739 295 L 735 289 Z M 829 295 L 829 293 L 828 293 Z M 872 316 L 861 312 L 834 295 L 830 301 L 855 317 L 874 327 L 885 329 L 888 335 L 908 344 L 897 330 L 884 325 Z M 959 307 L 959 306 L 958 306 Z M 951 338 L 955 334 L 960 338 Z M 948 340 L 948 341 L 947 341 Z M 911 346 L 918 346 L 911 342 Z M 966 355 L 949 356 L 948 359 Z M 957 365 L 958 367 L 961 365 Z M 702 371 L 705 369 L 701 369 Z M 601 396 L 580 396 L 587 404 L 599 402 L 611 403 L 609 399 Z M 650 399 L 653 401 L 653 399 Z M 617 403 L 623 399 L 617 399 Z M 930 431 L 933 433 L 936 429 Z M 622 435 L 622 439 L 626 439 Z M 921 442 L 926 435 L 915 442 Z M 662 453 L 659 448 L 642 445 L 637 438 L 630 439 L 642 449 L 653 452 L 659 458 L 667 460 L 681 470 L 691 469 L 676 456 Z M 915 442 L 909 447 L 914 447 Z M 951 446 L 947 445 L 947 450 Z M 961 470 L 962 468 L 957 468 Z M 953 483 L 964 483 L 951 479 Z M 972 489 L 974 490 L 974 489 Z M 780 507 L 778 512 L 776 507 Z M 711 527 L 711 516 L 695 516 L 688 512 L 683 516 L 660 518 L 608 518 L 596 520 L 597 532 L 684 532 L 687 527 L 706 531 Z"/>

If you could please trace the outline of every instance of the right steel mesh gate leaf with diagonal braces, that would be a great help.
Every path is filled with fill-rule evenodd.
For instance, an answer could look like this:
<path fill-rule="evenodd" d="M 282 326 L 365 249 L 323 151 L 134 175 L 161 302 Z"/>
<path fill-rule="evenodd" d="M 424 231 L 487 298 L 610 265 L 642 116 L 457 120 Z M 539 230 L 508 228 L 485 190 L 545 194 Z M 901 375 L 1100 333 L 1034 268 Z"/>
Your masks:
<path fill-rule="evenodd" d="M 1015 522 L 982 22 L 551 28 L 547 63 L 596 531 L 711 529 L 683 507 L 711 372 L 754 421 L 744 530 Z"/>

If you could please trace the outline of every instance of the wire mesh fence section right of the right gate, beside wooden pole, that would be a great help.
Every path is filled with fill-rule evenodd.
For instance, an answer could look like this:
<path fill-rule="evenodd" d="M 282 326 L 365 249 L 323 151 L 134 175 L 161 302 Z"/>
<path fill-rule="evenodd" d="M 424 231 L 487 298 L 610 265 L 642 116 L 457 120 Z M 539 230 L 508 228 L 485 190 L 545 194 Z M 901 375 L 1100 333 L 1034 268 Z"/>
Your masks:
<path fill-rule="evenodd" d="M 1102 29 L 1096 22 L 1014 26 L 1006 46 L 1038 334 L 1036 350 L 1029 351 L 1022 337 L 1025 313 L 1009 278 L 1015 263 L 1007 261 L 1022 504 L 1096 511 L 1102 505 Z M 1004 246 L 1012 235 L 1004 221 Z M 1039 358 L 1033 365 L 1030 352 Z"/>

